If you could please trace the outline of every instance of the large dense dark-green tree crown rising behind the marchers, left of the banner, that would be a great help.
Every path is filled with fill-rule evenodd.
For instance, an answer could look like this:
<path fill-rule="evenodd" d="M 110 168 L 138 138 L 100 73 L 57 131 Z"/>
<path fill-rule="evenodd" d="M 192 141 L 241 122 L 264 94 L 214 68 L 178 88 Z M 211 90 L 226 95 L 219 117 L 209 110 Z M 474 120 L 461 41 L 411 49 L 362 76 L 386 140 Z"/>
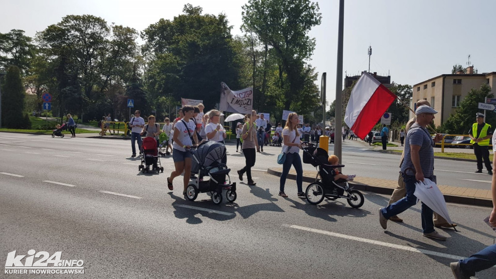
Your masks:
<path fill-rule="evenodd" d="M 222 81 L 233 90 L 240 88 L 232 27 L 224 14 L 202 14 L 201 7 L 191 4 L 183 12 L 141 33 L 150 58 L 144 81 L 154 106 L 160 96 L 173 96 L 203 100 L 206 108 L 213 108 Z"/>

